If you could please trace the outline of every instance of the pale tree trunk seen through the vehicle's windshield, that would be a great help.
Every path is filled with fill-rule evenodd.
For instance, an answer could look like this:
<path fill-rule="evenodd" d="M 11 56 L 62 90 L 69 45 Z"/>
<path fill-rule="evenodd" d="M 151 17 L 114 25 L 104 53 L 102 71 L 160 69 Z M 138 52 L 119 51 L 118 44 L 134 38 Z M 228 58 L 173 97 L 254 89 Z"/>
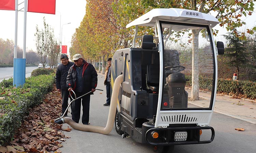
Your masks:
<path fill-rule="evenodd" d="M 192 100 L 199 100 L 199 30 L 192 30 Z"/>

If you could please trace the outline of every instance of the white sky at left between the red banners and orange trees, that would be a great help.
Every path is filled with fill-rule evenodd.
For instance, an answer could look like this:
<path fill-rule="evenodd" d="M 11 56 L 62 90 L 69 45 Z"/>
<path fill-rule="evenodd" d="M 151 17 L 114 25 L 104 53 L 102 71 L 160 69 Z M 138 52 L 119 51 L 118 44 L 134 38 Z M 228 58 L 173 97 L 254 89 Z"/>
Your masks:
<path fill-rule="evenodd" d="M 22 3 L 19 0 L 18 3 Z M 24 7 L 24 3 L 20 4 L 18 10 Z M 80 26 L 85 15 L 86 0 L 56 0 L 56 13 L 43 14 L 27 12 L 27 34 L 26 48 L 36 51 L 35 47 L 35 27 L 43 29 L 43 17 L 46 23 L 54 29 L 54 35 L 57 41 L 60 40 L 60 32 L 62 29 L 62 45 L 67 45 L 68 50 L 71 47 L 72 35 L 75 29 Z M 61 17 L 61 22 L 60 22 Z M 66 24 L 69 23 L 70 24 Z M 66 24 L 66 25 L 63 25 Z M 62 26 L 63 25 L 63 26 Z M 23 49 L 23 27 L 24 27 L 24 12 L 18 12 L 18 38 L 17 45 Z M 63 27 L 63 28 L 62 28 Z M 15 31 L 15 11 L 0 10 L 0 38 L 14 41 Z"/>

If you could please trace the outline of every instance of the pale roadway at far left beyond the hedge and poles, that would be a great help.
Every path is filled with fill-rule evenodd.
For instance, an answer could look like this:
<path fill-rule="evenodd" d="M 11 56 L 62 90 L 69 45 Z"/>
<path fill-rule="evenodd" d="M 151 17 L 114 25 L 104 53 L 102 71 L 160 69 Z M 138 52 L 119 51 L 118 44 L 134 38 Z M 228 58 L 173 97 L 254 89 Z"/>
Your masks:
<path fill-rule="evenodd" d="M 28 67 L 26 67 L 26 78 L 30 77 L 31 72 L 34 69 L 37 69 L 37 68 L 38 68 L 38 66 L 28 66 Z M 13 67 L 2 67 L 2 68 L 0 68 L 0 72 L 1 72 L 0 82 L 3 81 L 3 79 L 7 80 L 7 79 L 13 77 Z"/>

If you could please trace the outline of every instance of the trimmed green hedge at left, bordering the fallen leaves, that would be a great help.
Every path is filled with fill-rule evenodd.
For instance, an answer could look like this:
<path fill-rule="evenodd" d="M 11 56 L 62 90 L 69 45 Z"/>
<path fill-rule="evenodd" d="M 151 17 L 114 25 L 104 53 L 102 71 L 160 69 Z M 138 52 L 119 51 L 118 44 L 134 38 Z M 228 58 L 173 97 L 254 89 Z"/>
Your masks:
<path fill-rule="evenodd" d="M 40 104 L 54 84 L 53 75 L 29 77 L 23 88 L 8 87 L 11 80 L 0 84 L 0 145 L 12 139 L 29 109 Z"/>

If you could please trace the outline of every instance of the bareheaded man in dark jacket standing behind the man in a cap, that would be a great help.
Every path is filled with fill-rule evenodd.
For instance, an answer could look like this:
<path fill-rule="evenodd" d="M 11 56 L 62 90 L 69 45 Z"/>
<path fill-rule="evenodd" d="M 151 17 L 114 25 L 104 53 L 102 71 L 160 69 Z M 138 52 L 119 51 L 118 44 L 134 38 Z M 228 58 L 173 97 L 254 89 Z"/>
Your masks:
<path fill-rule="evenodd" d="M 62 98 L 61 116 L 62 116 L 68 107 L 69 91 L 67 87 L 67 76 L 68 76 L 69 68 L 72 65 L 74 65 L 74 62 L 69 62 L 69 58 L 66 54 L 60 55 L 60 61 L 61 61 L 61 64 L 57 66 L 55 81 L 56 81 L 57 90 L 61 92 L 61 98 Z M 66 113 L 65 116 L 67 116 L 67 114 L 68 113 Z"/>

